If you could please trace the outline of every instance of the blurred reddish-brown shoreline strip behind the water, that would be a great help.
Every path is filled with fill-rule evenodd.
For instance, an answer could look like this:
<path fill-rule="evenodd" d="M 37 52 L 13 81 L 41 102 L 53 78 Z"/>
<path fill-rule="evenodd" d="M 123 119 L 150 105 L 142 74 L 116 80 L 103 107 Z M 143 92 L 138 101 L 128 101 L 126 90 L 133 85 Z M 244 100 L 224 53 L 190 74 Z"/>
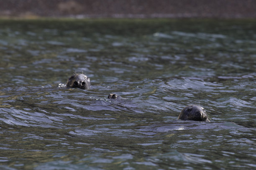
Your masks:
<path fill-rule="evenodd" d="M 256 0 L 0 0 L 0 18 L 256 18 Z"/>

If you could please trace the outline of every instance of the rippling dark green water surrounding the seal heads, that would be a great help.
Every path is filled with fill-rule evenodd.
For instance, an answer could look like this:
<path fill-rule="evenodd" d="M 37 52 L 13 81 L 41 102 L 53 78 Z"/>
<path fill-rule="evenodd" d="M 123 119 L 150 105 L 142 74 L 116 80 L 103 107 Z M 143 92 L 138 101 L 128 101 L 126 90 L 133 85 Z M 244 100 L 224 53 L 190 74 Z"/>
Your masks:
<path fill-rule="evenodd" d="M 255 20 L 1 20 L 0 58 L 0 169 L 256 168 Z"/>

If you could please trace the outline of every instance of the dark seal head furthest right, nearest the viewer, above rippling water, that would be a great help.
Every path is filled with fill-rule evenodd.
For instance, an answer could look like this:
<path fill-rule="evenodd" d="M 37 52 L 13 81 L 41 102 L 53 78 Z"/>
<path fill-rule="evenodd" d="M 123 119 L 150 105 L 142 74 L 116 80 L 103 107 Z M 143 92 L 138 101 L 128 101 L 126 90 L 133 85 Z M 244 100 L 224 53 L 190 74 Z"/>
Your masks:
<path fill-rule="evenodd" d="M 195 120 L 210 122 L 205 109 L 198 105 L 188 105 L 179 114 L 180 120 Z"/>

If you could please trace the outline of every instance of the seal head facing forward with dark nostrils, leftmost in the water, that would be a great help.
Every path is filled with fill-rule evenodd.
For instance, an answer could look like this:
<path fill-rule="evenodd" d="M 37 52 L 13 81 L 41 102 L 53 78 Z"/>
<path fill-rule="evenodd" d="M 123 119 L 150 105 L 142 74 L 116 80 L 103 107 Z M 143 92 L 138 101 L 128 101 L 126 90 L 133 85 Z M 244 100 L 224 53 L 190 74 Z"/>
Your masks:
<path fill-rule="evenodd" d="M 90 78 L 84 74 L 75 73 L 67 80 L 67 87 L 70 88 L 90 89 L 90 85 Z"/>

